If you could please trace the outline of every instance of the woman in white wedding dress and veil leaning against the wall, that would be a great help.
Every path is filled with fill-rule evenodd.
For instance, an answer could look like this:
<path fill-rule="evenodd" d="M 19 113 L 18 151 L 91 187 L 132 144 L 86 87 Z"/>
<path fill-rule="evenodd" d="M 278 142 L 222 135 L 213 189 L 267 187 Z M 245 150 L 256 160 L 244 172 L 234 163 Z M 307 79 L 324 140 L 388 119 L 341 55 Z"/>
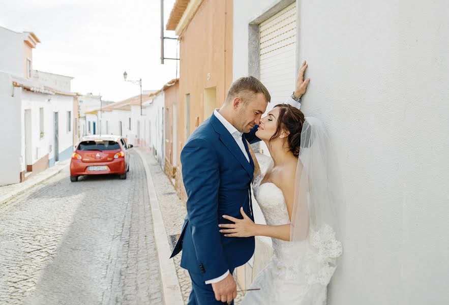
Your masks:
<path fill-rule="evenodd" d="M 330 140 L 314 117 L 287 104 L 261 119 L 256 136 L 273 158 L 265 173 L 257 159 L 254 196 L 266 225 L 223 216 L 226 237 L 272 237 L 274 256 L 258 273 L 243 305 L 326 303 L 327 284 L 342 254 L 334 208 L 341 204 Z M 249 146 L 249 145 L 248 145 Z M 250 146 L 249 146 L 250 147 Z"/>

